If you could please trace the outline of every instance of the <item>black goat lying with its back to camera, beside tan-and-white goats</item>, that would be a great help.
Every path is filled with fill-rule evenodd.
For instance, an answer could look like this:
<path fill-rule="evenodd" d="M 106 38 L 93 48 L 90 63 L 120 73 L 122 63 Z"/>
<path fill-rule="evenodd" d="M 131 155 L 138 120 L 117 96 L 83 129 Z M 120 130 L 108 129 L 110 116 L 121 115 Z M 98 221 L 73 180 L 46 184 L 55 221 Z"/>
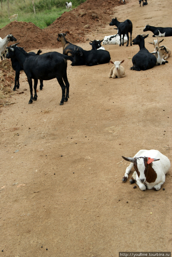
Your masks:
<path fill-rule="evenodd" d="M 139 45 L 140 51 L 133 56 L 133 67 L 131 67 L 130 70 L 145 71 L 155 66 L 157 58 L 153 54 L 149 53 L 149 51 L 145 48 L 145 38 L 148 36 L 149 34 L 144 37 L 142 35 L 137 35 L 137 37 L 133 39 L 133 45 Z"/>

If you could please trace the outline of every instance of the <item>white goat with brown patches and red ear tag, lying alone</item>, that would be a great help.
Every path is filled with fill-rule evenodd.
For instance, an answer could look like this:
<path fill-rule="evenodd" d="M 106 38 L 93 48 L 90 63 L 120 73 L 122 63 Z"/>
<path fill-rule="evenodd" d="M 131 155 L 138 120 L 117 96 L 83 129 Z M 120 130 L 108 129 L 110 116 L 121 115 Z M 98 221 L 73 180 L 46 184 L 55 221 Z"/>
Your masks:
<path fill-rule="evenodd" d="M 122 158 L 131 162 L 125 170 L 122 181 L 127 181 L 134 166 L 135 171 L 130 179 L 130 184 L 136 182 L 142 191 L 145 191 L 146 188 L 159 190 L 165 182 L 165 174 L 171 166 L 169 158 L 158 150 L 140 150 L 133 158 L 124 156 Z"/>

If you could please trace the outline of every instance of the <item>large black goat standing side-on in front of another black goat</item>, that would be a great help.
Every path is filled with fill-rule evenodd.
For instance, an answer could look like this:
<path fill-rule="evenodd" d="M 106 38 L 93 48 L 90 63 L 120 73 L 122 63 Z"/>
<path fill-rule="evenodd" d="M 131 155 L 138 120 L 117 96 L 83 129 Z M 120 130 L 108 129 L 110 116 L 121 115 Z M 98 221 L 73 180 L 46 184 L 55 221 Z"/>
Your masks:
<path fill-rule="evenodd" d="M 17 43 L 18 44 L 18 43 Z M 27 76 L 27 80 L 30 87 L 31 98 L 29 104 L 37 100 L 37 84 L 38 79 L 50 80 L 57 79 L 62 89 L 62 99 L 60 105 L 63 105 L 64 101 L 67 102 L 69 98 L 69 82 L 67 79 L 67 60 L 73 61 L 73 57 L 66 56 L 58 52 L 49 52 L 42 55 L 29 55 L 24 53 L 16 45 L 7 47 L 7 56 L 12 52 L 13 57 L 16 57 L 20 65 Z M 34 79 L 34 97 L 32 79 Z M 64 84 L 64 82 L 65 84 Z"/>

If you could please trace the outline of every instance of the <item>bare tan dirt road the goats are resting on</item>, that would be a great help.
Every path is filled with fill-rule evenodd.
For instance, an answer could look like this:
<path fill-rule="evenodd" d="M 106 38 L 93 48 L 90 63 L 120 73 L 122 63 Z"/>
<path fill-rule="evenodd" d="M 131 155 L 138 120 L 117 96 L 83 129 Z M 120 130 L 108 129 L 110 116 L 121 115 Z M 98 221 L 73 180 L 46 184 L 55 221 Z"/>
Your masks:
<path fill-rule="evenodd" d="M 129 0 L 114 11 L 89 39 L 114 34 L 109 22 L 115 16 L 132 21 L 132 38 L 148 23 L 172 24 L 168 0 L 148 0 L 145 7 Z M 151 52 L 153 33 L 148 33 L 145 46 Z M 163 43 L 172 49 L 171 37 Z M 91 49 L 88 41 L 78 45 Z M 172 57 L 165 65 L 131 71 L 139 46 L 125 45 L 105 45 L 112 61 L 125 59 L 121 79 L 109 79 L 112 64 L 71 67 L 68 61 L 70 98 L 62 106 L 56 79 L 44 81 L 29 105 L 21 72 L 15 104 L 0 110 L 0 256 L 171 251 L 171 169 L 159 191 L 143 192 L 122 182 L 129 163 L 121 156 L 157 149 L 172 159 Z M 62 53 L 62 47 L 42 50 Z"/>

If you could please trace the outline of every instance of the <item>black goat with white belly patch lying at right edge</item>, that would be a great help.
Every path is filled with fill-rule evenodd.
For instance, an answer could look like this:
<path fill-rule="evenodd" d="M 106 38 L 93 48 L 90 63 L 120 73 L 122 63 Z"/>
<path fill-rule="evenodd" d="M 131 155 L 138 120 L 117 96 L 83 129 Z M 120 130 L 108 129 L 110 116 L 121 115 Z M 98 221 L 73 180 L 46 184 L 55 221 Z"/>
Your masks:
<path fill-rule="evenodd" d="M 152 37 L 171 37 L 172 36 L 172 28 L 171 27 L 153 27 L 147 24 L 143 31 L 151 31 L 154 35 Z"/>

